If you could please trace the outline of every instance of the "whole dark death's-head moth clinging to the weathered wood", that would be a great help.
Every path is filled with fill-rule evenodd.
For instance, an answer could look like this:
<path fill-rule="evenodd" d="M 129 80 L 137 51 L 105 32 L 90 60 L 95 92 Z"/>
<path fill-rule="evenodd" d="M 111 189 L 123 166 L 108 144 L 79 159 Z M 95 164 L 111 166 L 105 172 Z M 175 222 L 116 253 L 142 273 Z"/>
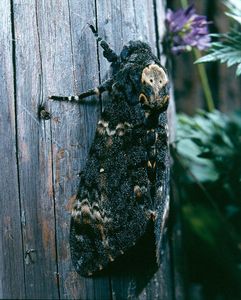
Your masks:
<path fill-rule="evenodd" d="M 130 41 L 117 55 L 90 28 L 112 75 L 80 95 L 50 97 L 81 103 L 108 93 L 71 215 L 71 256 L 82 276 L 123 255 L 153 223 L 159 261 L 168 211 L 167 71 L 148 44 Z"/>

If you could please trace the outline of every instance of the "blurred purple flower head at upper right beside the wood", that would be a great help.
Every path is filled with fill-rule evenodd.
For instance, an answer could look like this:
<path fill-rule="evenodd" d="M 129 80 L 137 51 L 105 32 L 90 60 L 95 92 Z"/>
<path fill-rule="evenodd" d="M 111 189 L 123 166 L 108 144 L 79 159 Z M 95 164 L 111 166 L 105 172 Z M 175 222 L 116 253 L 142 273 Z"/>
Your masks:
<path fill-rule="evenodd" d="M 168 39 L 174 54 L 190 51 L 193 47 L 205 50 L 210 46 L 206 16 L 196 14 L 193 5 L 166 14 Z"/>

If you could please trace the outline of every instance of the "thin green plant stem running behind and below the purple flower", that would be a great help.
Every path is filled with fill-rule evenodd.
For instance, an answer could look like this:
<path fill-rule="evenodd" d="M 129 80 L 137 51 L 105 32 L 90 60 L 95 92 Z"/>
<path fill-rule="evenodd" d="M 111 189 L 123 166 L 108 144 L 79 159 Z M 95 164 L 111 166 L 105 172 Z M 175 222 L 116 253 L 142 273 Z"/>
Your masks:
<path fill-rule="evenodd" d="M 188 1 L 187 0 L 180 0 L 182 8 L 186 8 L 188 6 Z M 201 57 L 201 53 L 197 49 L 193 49 L 193 54 L 195 57 L 195 60 Z M 208 111 L 211 112 L 215 109 L 214 106 L 214 101 L 212 97 L 212 92 L 209 86 L 208 82 L 208 77 L 207 77 L 207 72 L 205 70 L 205 67 L 203 64 L 197 64 L 197 69 L 198 73 L 201 79 L 202 87 L 203 87 L 203 92 L 207 104 Z"/>

